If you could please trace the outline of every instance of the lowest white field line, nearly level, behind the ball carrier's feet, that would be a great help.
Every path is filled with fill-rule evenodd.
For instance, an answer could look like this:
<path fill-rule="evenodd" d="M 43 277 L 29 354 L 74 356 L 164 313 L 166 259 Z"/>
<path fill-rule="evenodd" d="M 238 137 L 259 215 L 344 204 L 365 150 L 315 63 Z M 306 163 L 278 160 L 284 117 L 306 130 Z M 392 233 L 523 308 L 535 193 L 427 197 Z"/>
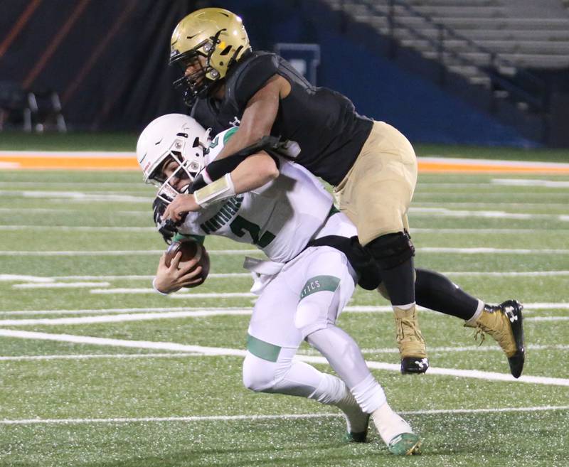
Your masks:
<path fill-rule="evenodd" d="M 544 405 L 537 407 L 496 407 L 493 409 L 430 409 L 405 410 L 401 415 L 442 415 L 442 414 L 483 414 L 494 412 L 555 412 L 569 410 L 568 405 Z M 37 425 L 37 424 L 103 424 L 103 423 L 144 423 L 144 422 L 236 422 L 241 420 L 294 420 L 339 418 L 342 414 L 278 414 L 278 415 L 193 415 L 191 417 L 132 417 L 112 419 L 15 419 L 0 420 L 2 425 Z"/>

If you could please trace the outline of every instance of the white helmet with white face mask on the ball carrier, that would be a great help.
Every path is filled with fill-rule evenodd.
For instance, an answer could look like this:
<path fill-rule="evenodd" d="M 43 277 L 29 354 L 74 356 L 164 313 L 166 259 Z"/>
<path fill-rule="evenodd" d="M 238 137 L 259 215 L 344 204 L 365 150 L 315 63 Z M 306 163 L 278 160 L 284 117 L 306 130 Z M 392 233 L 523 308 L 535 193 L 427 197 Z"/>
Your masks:
<path fill-rule="evenodd" d="M 171 179 L 187 178 L 189 186 L 206 165 L 204 150 L 209 144 L 209 131 L 184 114 L 166 114 L 152 120 L 137 142 L 137 160 L 144 182 L 158 186 L 159 192 L 172 193 L 174 198 L 179 191 L 169 183 Z M 179 167 L 166 178 L 161 169 L 170 158 Z"/>

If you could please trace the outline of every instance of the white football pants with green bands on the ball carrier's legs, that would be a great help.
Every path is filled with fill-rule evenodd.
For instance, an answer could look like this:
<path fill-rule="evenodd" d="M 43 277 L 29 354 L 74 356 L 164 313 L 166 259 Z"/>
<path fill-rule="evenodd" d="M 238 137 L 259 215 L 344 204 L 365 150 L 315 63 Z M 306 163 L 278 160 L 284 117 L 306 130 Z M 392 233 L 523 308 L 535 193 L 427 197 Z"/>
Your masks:
<path fill-rule="evenodd" d="M 354 396 L 364 412 L 383 404 L 383 389 L 358 345 L 335 325 L 356 280 L 344 253 L 331 247 L 310 247 L 287 263 L 253 308 L 243 363 L 245 387 L 334 404 L 344 397 L 346 386 L 353 390 L 363 383 Z M 343 382 L 293 360 L 304 339 L 324 355 Z"/>

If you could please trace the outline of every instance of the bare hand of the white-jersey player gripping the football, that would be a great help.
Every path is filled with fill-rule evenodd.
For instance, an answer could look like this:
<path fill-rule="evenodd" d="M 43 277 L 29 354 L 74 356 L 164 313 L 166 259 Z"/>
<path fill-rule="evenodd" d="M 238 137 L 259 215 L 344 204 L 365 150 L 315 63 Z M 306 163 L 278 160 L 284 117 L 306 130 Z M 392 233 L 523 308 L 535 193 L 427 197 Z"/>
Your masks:
<path fill-rule="evenodd" d="M 166 266 L 166 253 L 162 254 L 160 258 L 154 286 L 163 294 L 171 294 L 179 291 L 182 287 L 195 287 L 203 282 L 201 266 L 196 266 L 198 261 L 191 259 L 180 265 L 181 257 L 181 252 L 178 252 L 169 267 Z"/>

